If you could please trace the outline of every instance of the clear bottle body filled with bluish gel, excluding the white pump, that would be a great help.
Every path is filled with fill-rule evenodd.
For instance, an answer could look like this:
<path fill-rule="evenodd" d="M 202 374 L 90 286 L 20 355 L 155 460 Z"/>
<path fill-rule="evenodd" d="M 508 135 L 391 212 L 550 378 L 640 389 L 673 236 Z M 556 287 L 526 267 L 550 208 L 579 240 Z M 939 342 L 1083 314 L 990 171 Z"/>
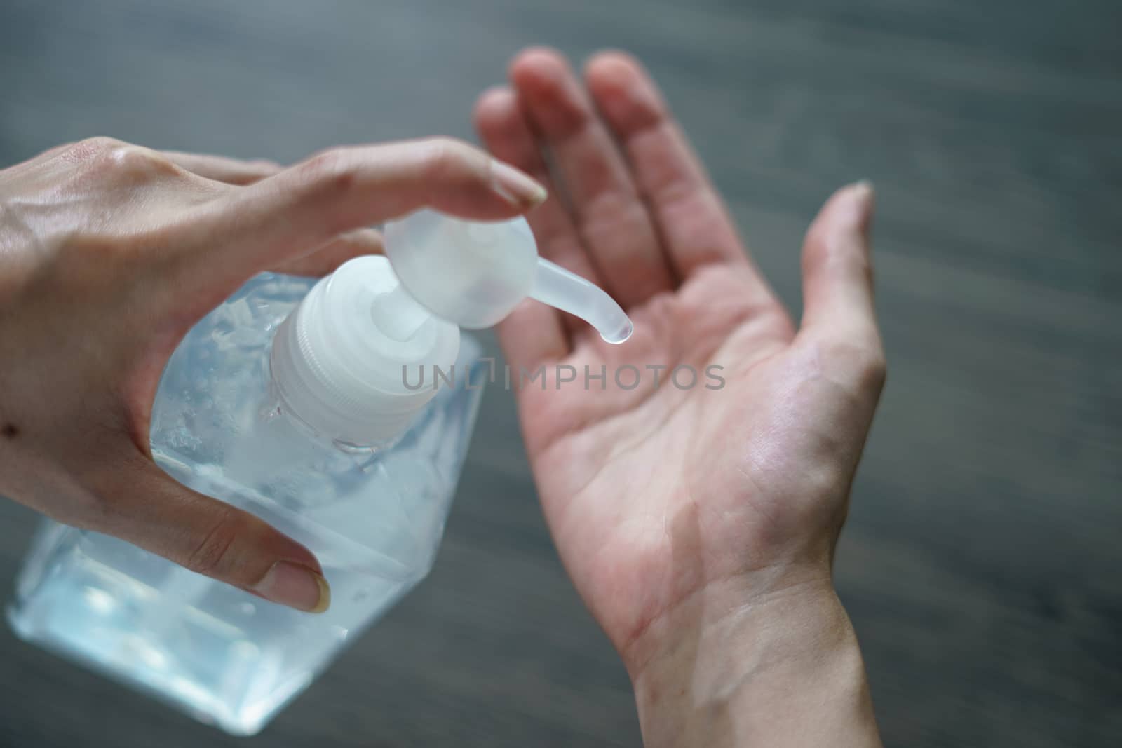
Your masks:
<path fill-rule="evenodd" d="M 427 573 L 480 391 L 442 387 L 381 451 L 312 434 L 276 399 L 268 366 L 276 327 L 311 286 L 258 276 L 191 331 L 160 380 L 151 446 L 181 482 L 256 514 L 315 553 L 331 609 L 284 608 L 127 543 L 47 521 L 8 610 L 18 635 L 251 735 Z M 468 371 L 478 355 L 463 339 L 457 370 Z"/>

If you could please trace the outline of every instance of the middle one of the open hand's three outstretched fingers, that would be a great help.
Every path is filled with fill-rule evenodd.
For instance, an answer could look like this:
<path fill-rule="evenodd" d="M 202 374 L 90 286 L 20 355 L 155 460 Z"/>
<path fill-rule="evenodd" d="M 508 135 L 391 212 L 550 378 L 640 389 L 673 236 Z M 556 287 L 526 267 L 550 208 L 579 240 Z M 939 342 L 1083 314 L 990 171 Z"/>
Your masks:
<path fill-rule="evenodd" d="M 651 218 L 627 166 L 564 57 L 528 49 L 511 81 L 570 197 L 574 222 L 608 290 L 624 305 L 673 287 Z"/>

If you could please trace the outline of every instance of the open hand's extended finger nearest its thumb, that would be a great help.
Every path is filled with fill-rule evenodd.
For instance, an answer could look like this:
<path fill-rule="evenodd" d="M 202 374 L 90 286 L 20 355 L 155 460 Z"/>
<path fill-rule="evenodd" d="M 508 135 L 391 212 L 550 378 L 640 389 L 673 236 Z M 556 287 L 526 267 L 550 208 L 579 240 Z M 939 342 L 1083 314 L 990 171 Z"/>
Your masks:
<path fill-rule="evenodd" d="M 585 75 L 679 278 L 708 262 L 743 261 L 743 246 L 720 196 L 640 63 L 623 53 L 600 53 Z"/>

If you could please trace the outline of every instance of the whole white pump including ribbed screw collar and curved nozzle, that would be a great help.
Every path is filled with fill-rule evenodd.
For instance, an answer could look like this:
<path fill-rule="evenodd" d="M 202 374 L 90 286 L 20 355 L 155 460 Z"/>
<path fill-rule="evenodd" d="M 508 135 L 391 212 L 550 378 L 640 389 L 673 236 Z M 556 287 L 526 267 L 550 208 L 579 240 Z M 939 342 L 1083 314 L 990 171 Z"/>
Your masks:
<path fill-rule="evenodd" d="M 284 403 L 340 441 L 378 445 L 403 433 L 435 396 L 435 369 L 447 375 L 456 362 L 457 325 L 489 327 L 527 296 L 587 320 L 609 343 L 632 333 L 610 296 L 537 257 L 523 219 L 419 211 L 386 227 L 386 255 L 318 283 L 273 344 Z"/>

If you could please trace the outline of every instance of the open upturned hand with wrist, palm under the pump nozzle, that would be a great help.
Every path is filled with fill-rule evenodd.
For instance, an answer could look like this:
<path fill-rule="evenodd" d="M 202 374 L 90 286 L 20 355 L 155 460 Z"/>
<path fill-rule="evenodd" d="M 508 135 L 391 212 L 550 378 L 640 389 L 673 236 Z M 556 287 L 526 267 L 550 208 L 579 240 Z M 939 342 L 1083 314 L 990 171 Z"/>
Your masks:
<path fill-rule="evenodd" d="M 582 377 L 524 386 L 518 405 L 561 558 L 632 675 L 646 740 L 813 744 L 821 732 L 820 745 L 843 745 L 845 718 L 800 727 L 790 698 L 800 689 L 820 707 L 816 689 L 831 685 L 821 698 L 864 722 L 855 742 L 875 744 L 830 580 L 885 371 L 870 187 L 840 190 L 811 225 L 795 330 L 635 61 L 598 55 L 581 85 L 564 58 L 532 49 L 511 82 L 479 100 L 481 138 L 553 185 L 528 215 L 542 253 L 606 287 L 635 323 L 611 347 L 527 303 L 500 336 L 513 370 L 607 369 L 604 390 Z M 633 370 L 614 380 L 626 364 L 643 375 L 634 389 Z M 718 386 L 703 378 L 710 364 L 723 387 L 705 386 Z M 649 366 L 666 367 L 657 387 Z M 670 379 L 680 366 L 698 373 L 693 387 L 686 369 Z"/>

